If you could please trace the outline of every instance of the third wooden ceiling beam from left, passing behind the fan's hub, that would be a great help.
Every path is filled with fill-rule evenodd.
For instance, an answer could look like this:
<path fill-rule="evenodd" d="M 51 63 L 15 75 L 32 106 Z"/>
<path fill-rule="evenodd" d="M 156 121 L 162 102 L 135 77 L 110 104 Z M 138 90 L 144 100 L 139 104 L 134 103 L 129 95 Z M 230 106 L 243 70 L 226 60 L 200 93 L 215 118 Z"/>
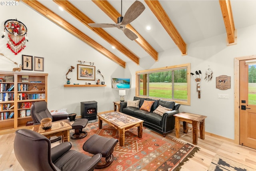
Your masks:
<path fill-rule="evenodd" d="M 111 20 L 117 23 L 117 18 L 121 14 L 106 0 L 92 0 Z M 158 61 L 158 52 L 130 25 L 127 24 L 126 28 L 132 30 L 137 34 L 138 38 L 134 41 L 139 44 L 155 61 Z"/>

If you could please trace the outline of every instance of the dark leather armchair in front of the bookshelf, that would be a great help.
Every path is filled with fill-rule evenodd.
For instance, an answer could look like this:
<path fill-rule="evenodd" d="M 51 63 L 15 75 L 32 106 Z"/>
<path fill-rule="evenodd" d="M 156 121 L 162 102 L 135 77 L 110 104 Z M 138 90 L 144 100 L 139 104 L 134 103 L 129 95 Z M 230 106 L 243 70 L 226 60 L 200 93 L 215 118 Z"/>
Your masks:
<path fill-rule="evenodd" d="M 33 103 L 31 106 L 30 113 L 34 121 L 34 124 L 40 123 L 40 121 L 46 117 L 50 117 L 53 122 L 61 119 L 68 119 L 68 114 L 52 115 L 47 108 L 46 101 L 37 101 Z"/>

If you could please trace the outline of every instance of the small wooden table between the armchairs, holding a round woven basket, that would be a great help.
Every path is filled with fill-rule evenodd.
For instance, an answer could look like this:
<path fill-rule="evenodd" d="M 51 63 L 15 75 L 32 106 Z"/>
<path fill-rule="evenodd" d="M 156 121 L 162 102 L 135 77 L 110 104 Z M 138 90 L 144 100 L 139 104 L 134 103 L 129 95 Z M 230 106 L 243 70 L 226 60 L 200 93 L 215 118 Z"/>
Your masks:
<path fill-rule="evenodd" d="M 52 136 L 62 136 L 62 143 L 70 141 L 69 130 L 72 129 L 70 121 L 68 119 L 52 122 L 50 129 L 44 130 L 41 125 L 34 125 L 33 131 L 40 133 L 50 139 Z"/>

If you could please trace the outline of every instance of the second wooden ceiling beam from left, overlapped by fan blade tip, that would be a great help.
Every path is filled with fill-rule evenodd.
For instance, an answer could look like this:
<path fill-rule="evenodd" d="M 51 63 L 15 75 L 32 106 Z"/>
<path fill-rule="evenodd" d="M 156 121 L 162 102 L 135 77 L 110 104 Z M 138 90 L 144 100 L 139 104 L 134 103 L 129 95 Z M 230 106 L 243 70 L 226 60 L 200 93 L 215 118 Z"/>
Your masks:
<path fill-rule="evenodd" d="M 76 6 L 74 6 L 72 3 L 70 3 L 67 0 L 54 0 L 56 4 L 61 6 L 64 10 L 66 10 L 68 13 L 70 13 L 72 16 L 74 16 L 78 21 L 82 22 L 82 24 L 86 25 L 88 28 L 90 28 L 92 31 L 94 31 L 96 34 L 98 34 L 101 38 L 106 40 L 109 44 L 116 47 L 117 50 L 122 52 L 125 56 L 127 56 L 130 60 L 135 62 L 137 65 L 139 65 L 139 58 L 136 56 L 133 52 L 131 52 L 128 48 L 126 48 L 123 44 L 118 42 L 115 38 L 113 38 L 108 32 L 106 32 L 103 28 L 92 28 L 88 24 L 94 23 L 93 20 L 91 20 L 88 16 L 86 16 L 82 11 L 80 11 Z"/>

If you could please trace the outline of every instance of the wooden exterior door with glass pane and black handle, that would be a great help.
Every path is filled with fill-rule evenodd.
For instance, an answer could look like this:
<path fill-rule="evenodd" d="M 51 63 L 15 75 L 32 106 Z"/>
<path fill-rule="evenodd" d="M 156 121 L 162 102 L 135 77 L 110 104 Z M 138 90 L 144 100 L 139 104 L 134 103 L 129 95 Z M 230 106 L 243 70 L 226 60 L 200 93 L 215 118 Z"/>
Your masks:
<path fill-rule="evenodd" d="M 254 78 L 256 78 L 256 64 L 246 64 L 246 60 L 241 60 L 239 144 L 256 149 L 256 80 Z"/>

